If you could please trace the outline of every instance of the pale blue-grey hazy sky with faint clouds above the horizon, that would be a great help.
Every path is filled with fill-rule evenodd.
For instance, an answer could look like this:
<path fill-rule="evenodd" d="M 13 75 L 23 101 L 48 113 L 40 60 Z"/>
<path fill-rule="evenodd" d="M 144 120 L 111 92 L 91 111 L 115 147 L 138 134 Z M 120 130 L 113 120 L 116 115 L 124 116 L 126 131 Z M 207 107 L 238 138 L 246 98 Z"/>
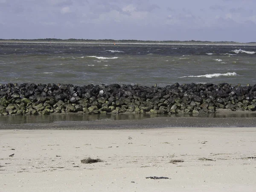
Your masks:
<path fill-rule="evenodd" d="M 256 0 L 0 0 L 0 39 L 256 41 Z"/>

